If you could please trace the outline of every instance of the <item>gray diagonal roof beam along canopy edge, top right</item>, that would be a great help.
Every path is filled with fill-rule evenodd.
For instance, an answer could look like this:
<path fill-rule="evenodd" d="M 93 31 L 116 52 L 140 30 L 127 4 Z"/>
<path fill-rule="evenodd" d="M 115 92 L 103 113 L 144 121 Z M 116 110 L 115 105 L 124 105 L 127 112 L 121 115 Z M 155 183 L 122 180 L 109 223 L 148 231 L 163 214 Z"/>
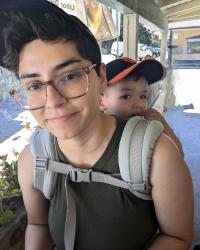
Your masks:
<path fill-rule="evenodd" d="M 167 18 L 154 0 L 98 0 L 124 14 L 137 13 L 155 24 L 161 31 L 167 31 Z"/>

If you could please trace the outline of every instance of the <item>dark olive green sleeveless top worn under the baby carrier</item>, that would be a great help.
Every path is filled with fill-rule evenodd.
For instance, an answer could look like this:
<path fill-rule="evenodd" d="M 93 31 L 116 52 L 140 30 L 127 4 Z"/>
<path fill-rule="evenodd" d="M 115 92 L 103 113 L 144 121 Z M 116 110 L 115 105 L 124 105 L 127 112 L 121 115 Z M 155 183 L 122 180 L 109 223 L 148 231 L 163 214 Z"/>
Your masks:
<path fill-rule="evenodd" d="M 111 141 L 93 170 L 119 173 L 118 148 L 125 123 L 117 120 Z M 58 147 L 57 147 L 58 148 Z M 60 161 L 65 162 L 58 148 Z M 104 183 L 69 183 L 76 204 L 75 250 L 139 250 L 158 230 L 152 201 Z M 64 250 L 65 176 L 58 175 L 50 201 L 49 226 L 59 250 Z"/>

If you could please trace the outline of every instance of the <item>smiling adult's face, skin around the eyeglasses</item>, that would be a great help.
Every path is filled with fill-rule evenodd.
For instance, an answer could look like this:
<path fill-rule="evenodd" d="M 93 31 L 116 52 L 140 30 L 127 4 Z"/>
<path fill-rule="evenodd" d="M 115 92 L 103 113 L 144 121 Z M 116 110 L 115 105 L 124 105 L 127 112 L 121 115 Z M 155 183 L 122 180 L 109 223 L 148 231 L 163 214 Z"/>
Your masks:
<path fill-rule="evenodd" d="M 19 78 L 24 86 L 33 81 L 44 83 L 91 65 L 79 55 L 72 42 L 38 39 L 26 44 L 20 53 Z M 106 85 L 104 67 L 101 67 L 100 76 L 91 69 L 88 80 L 88 92 L 76 99 L 64 98 L 50 83 L 46 88 L 45 106 L 31 111 L 36 121 L 60 139 L 84 133 L 99 115 L 99 95 Z"/>

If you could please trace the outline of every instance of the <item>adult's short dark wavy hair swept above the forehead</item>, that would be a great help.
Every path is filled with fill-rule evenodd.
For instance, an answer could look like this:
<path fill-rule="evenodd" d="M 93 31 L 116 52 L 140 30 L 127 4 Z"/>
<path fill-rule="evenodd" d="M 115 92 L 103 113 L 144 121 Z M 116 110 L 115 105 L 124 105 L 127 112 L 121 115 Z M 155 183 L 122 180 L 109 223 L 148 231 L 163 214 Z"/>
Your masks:
<path fill-rule="evenodd" d="M 47 5 L 51 3 L 47 3 Z M 39 11 L 39 7 L 38 7 Z M 18 75 L 19 54 L 25 44 L 41 39 L 43 41 L 72 41 L 80 55 L 100 65 L 101 52 L 97 40 L 88 27 L 77 17 L 69 15 L 55 6 L 55 10 L 42 12 L 42 15 L 23 11 L 4 13 L 6 26 L 3 29 L 5 54 L 3 67 Z M 99 74 L 99 67 L 97 67 Z"/>

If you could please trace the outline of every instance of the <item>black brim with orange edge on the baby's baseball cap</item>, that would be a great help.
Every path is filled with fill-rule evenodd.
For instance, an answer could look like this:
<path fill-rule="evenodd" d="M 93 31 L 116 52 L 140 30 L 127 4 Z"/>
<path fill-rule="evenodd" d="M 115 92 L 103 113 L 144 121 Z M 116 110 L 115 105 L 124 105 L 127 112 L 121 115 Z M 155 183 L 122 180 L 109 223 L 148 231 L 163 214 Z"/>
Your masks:
<path fill-rule="evenodd" d="M 133 71 L 137 74 L 144 76 L 149 85 L 154 82 L 160 81 L 165 75 L 164 67 L 159 61 L 154 59 L 148 59 L 135 63 L 130 67 L 122 70 L 112 79 L 109 79 L 108 84 L 113 84 L 123 80 Z"/>

